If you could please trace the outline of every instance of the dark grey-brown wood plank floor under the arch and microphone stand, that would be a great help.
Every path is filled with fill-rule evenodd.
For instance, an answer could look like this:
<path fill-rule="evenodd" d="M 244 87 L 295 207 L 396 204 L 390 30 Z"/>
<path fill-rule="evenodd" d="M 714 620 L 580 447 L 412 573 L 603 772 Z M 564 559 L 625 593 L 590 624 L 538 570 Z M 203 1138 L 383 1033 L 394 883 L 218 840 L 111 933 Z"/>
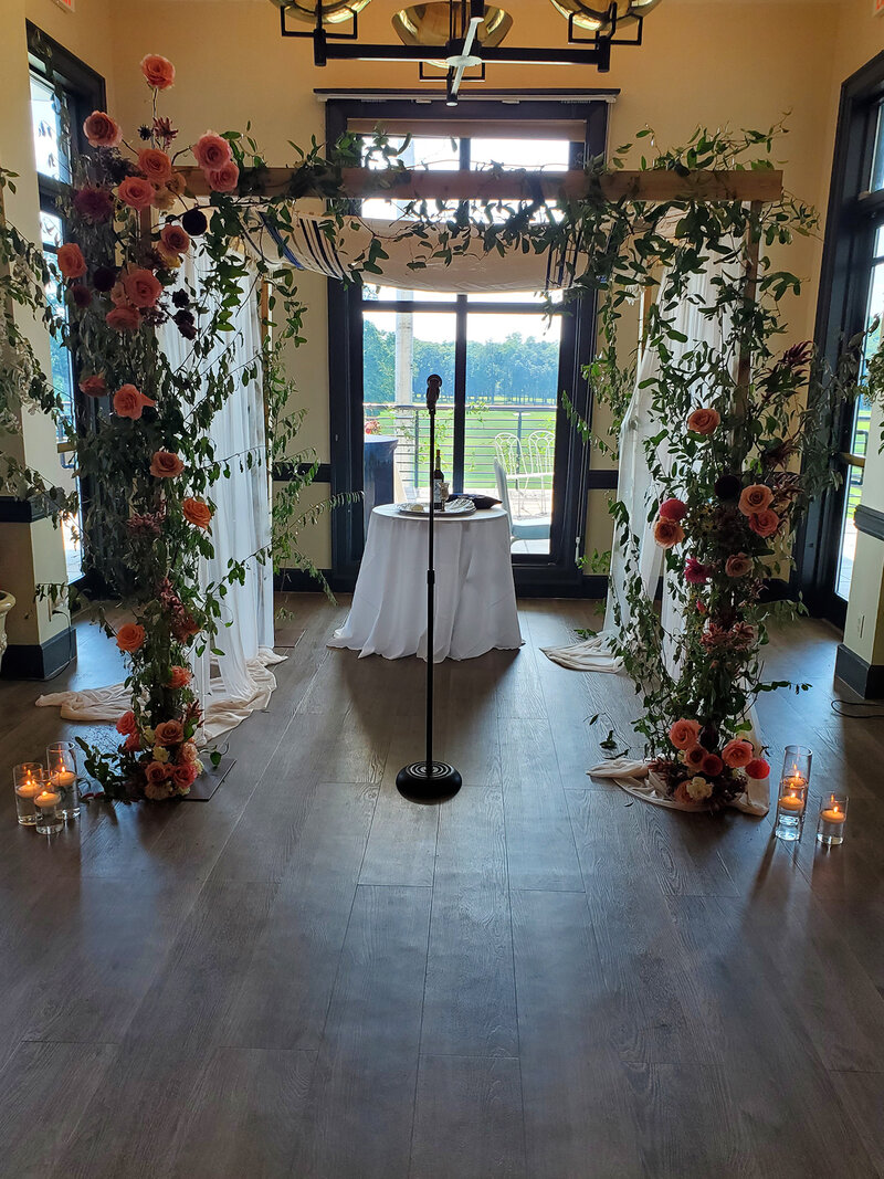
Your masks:
<path fill-rule="evenodd" d="M 833 632 L 780 632 L 771 670 L 813 691 L 761 706 L 773 762 L 810 744 L 814 793 L 850 790 L 826 852 L 586 777 L 634 707 L 539 652 L 586 602 L 438 668 L 466 785 L 408 804 L 423 665 L 291 605 L 207 803 L 19 828 L 12 764 L 72 726 L 0 685 L 4 1179 L 884 1174 L 884 722 L 831 711 Z M 116 677 L 80 640 L 53 689 Z"/>

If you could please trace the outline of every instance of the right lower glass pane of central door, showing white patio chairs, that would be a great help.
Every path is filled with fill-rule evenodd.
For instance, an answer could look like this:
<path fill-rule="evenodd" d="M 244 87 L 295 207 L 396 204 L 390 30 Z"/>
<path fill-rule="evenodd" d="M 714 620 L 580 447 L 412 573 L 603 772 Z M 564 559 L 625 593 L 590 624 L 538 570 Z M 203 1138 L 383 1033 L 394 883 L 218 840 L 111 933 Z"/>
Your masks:
<path fill-rule="evenodd" d="M 504 501 L 513 552 L 549 553 L 561 320 L 470 312 L 463 487 Z"/>

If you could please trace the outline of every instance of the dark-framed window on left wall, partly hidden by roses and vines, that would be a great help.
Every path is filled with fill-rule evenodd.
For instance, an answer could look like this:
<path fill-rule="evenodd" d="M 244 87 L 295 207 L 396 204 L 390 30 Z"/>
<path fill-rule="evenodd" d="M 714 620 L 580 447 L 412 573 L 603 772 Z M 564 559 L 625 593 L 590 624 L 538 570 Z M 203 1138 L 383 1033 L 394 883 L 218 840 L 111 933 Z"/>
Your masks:
<path fill-rule="evenodd" d="M 40 193 L 40 229 L 46 253 L 55 253 L 66 238 L 61 216 L 64 198 L 74 177 L 77 154 L 86 149 L 81 126 L 86 116 L 104 108 L 104 80 L 88 66 L 72 57 L 60 45 L 28 25 L 31 66 L 31 123 L 33 130 L 34 163 Z M 61 291 L 47 289 L 46 298 L 53 310 L 66 314 Z M 77 429 L 90 428 L 94 407 L 84 403 L 77 388 L 75 357 L 57 340 L 51 345 L 52 382 L 65 407 L 65 417 Z M 61 482 L 74 488 L 70 444 L 64 429 L 59 430 Z M 90 494 L 80 486 L 80 501 Z M 84 542 L 81 514 L 78 519 L 65 516 L 61 521 L 65 536 L 65 558 L 68 581 L 80 581 L 84 574 Z M 92 538 L 90 538 L 91 540 Z"/>

